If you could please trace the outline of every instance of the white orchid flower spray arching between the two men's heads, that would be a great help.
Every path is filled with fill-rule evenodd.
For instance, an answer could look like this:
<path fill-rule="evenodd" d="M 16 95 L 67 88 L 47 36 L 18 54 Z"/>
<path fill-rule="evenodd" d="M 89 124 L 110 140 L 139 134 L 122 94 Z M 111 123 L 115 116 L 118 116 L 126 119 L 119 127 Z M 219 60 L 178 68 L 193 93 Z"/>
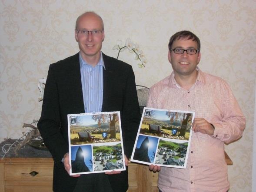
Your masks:
<path fill-rule="evenodd" d="M 124 50 L 128 49 L 130 53 L 134 53 L 133 58 L 135 60 L 140 60 L 141 63 L 138 63 L 138 67 L 142 68 L 145 67 L 146 64 L 146 58 L 145 55 L 143 54 L 143 51 L 140 50 L 140 46 L 137 43 L 133 43 L 130 38 L 127 38 L 125 41 L 125 45 L 122 45 L 121 40 L 116 41 L 116 45 L 113 46 L 113 50 L 118 50 L 118 54 L 116 59 L 118 59 L 120 52 L 123 52 Z"/>

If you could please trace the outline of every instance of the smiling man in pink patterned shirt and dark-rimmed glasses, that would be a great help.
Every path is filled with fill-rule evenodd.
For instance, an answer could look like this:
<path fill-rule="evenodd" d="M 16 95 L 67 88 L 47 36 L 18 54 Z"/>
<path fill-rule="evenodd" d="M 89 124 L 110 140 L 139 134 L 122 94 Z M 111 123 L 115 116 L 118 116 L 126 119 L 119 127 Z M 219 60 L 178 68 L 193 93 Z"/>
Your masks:
<path fill-rule="evenodd" d="M 150 88 L 147 107 L 194 111 L 193 134 L 186 169 L 149 169 L 160 171 L 160 192 L 226 192 L 224 143 L 242 136 L 245 117 L 228 84 L 197 67 L 201 53 L 195 34 L 177 32 L 168 46 L 173 72 Z"/>

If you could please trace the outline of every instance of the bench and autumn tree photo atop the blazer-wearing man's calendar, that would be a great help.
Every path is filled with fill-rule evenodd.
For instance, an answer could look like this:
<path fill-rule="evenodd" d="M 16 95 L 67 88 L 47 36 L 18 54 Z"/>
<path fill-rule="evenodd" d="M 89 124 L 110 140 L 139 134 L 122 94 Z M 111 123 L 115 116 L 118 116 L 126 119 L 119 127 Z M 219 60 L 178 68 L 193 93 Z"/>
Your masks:
<path fill-rule="evenodd" d="M 119 113 L 76 115 L 69 118 L 70 145 L 121 141 Z"/>

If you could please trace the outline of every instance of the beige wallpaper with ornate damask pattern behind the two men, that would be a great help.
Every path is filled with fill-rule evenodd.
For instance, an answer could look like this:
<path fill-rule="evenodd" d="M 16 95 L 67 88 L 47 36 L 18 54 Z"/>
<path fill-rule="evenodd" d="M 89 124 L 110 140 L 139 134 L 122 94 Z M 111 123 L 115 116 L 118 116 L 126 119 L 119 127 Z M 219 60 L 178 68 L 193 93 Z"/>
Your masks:
<path fill-rule="evenodd" d="M 133 65 L 138 85 L 150 87 L 171 73 L 167 45 L 173 33 L 199 36 L 199 67 L 226 79 L 246 116 L 243 138 L 226 146 L 233 160 L 230 191 L 251 191 L 255 0 L 0 0 L 0 141 L 19 138 L 23 122 L 40 117 L 38 79 L 47 76 L 50 63 L 78 51 L 74 23 L 86 10 L 103 17 L 104 53 L 116 57 L 112 47 L 128 37 L 140 45 L 145 68 L 127 50 L 120 55 Z"/>

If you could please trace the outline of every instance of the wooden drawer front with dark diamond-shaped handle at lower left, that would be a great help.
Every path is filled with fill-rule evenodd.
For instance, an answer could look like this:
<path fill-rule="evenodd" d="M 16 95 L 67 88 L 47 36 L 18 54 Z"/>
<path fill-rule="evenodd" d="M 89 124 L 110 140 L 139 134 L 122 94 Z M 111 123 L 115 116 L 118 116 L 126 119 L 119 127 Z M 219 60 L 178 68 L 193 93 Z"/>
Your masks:
<path fill-rule="evenodd" d="M 4 180 L 6 185 L 27 185 L 31 182 L 52 185 L 52 164 L 5 164 Z"/>

